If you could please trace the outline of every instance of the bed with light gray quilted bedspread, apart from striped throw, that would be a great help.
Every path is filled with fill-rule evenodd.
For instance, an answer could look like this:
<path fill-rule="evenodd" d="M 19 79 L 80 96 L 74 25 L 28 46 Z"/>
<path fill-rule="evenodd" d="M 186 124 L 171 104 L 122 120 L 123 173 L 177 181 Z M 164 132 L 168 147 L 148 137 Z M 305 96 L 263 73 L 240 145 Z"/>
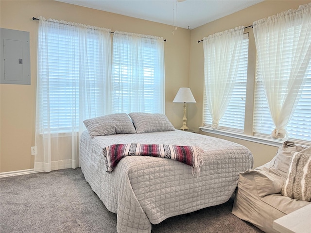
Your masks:
<path fill-rule="evenodd" d="M 134 123 L 135 133 L 129 125 L 116 128 L 123 124 L 118 116 L 113 123 L 107 124 L 107 120 L 101 127 L 103 119 L 95 120 L 97 129 L 113 128 L 104 135 L 94 133 L 92 124 L 85 122 L 87 131 L 80 137 L 82 172 L 106 208 L 117 214 L 118 233 L 150 233 L 151 224 L 168 217 L 222 204 L 234 193 L 240 172 L 253 166 L 251 152 L 242 145 L 174 130 L 165 115 L 129 115 L 131 118 L 126 117 Z M 159 116 L 165 121 L 164 128 L 160 127 Z M 140 130 L 146 127 L 147 130 Z M 134 142 L 199 147 L 204 150 L 200 175 L 193 175 L 191 167 L 179 161 L 149 156 L 126 156 L 107 173 L 103 149 Z"/>

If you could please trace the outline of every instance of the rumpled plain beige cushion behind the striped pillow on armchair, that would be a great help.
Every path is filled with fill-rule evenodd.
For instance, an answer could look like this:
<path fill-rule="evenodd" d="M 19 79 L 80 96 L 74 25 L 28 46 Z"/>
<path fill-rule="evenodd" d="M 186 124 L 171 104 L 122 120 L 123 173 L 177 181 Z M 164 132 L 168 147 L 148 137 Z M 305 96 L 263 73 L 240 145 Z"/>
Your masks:
<path fill-rule="evenodd" d="M 299 152 L 306 149 L 305 146 L 296 145 L 294 142 L 286 141 L 277 149 L 276 156 L 273 159 L 273 167 L 285 178 L 292 158 L 292 152 Z"/>

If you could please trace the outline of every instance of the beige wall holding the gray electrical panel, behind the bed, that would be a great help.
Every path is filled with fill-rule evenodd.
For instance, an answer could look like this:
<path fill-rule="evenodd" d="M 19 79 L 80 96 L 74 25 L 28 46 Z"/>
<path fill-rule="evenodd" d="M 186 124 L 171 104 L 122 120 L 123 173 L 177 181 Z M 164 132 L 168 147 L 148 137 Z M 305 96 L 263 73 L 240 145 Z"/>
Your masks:
<path fill-rule="evenodd" d="M 34 168 L 30 148 L 35 145 L 35 97 L 38 21 L 43 16 L 113 31 L 162 36 L 165 49 L 166 114 L 172 122 L 182 117 L 182 108 L 173 104 L 179 87 L 189 84 L 190 33 L 172 26 L 125 17 L 58 1 L 0 1 L 0 27 L 30 32 L 31 85 L 0 84 L 0 172 Z M 182 48 L 182 49 L 181 49 Z M 178 108 L 176 106 L 178 106 Z"/>

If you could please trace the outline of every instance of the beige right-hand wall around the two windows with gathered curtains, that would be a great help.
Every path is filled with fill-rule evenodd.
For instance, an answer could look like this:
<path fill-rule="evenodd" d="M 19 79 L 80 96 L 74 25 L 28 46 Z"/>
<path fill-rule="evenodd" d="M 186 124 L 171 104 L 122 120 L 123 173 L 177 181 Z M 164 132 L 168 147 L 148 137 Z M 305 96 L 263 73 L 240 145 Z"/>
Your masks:
<path fill-rule="evenodd" d="M 189 87 L 193 92 L 194 98 L 197 103 L 189 104 L 189 115 L 188 115 L 188 125 L 190 128 L 198 128 L 202 125 L 202 106 L 203 106 L 203 83 L 204 83 L 204 54 L 203 54 L 203 43 L 198 43 L 198 40 L 202 40 L 203 37 L 208 36 L 213 33 L 222 32 L 227 29 L 235 28 L 240 25 L 245 27 L 252 25 L 254 21 L 259 20 L 264 17 L 269 17 L 276 15 L 282 11 L 288 9 L 297 9 L 299 5 L 306 4 L 310 1 L 301 0 L 277 0 L 270 1 L 265 0 L 256 5 L 248 7 L 237 13 L 231 14 L 229 16 L 220 18 L 213 22 L 207 23 L 201 27 L 191 30 L 191 40 L 190 40 L 190 72 L 189 72 Z M 249 33 L 249 50 L 255 51 L 255 42 L 253 30 L 251 28 L 245 29 L 245 32 Z M 251 67 L 248 73 L 248 85 L 254 85 L 254 74 L 255 74 L 255 53 L 251 52 L 249 54 L 248 66 Z M 251 82 L 249 82 L 251 81 Z M 253 100 L 253 93 L 248 93 L 246 100 Z M 252 114 L 252 108 L 248 107 L 249 104 L 246 102 L 246 110 L 248 114 Z M 248 123 L 247 134 L 252 133 L 252 122 Z M 270 161 L 275 153 L 276 147 L 267 146 L 263 144 L 258 144 L 254 142 L 244 141 L 240 139 L 219 136 L 212 133 L 203 133 L 215 137 L 224 138 L 234 142 L 238 142 L 247 148 L 249 148 L 254 155 L 254 167 L 263 165 L 264 163 Z"/>

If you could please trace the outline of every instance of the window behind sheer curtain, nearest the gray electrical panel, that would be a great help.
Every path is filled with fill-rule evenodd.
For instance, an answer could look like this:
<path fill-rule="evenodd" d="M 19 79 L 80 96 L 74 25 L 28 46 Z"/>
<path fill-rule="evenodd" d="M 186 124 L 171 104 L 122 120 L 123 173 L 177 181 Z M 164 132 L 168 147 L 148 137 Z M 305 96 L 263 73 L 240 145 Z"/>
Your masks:
<path fill-rule="evenodd" d="M 110 33 L 75 24 L 40 22 L 39 129 L 42 133 L 78 132 L 84 119 L 107 112 Z"/>

